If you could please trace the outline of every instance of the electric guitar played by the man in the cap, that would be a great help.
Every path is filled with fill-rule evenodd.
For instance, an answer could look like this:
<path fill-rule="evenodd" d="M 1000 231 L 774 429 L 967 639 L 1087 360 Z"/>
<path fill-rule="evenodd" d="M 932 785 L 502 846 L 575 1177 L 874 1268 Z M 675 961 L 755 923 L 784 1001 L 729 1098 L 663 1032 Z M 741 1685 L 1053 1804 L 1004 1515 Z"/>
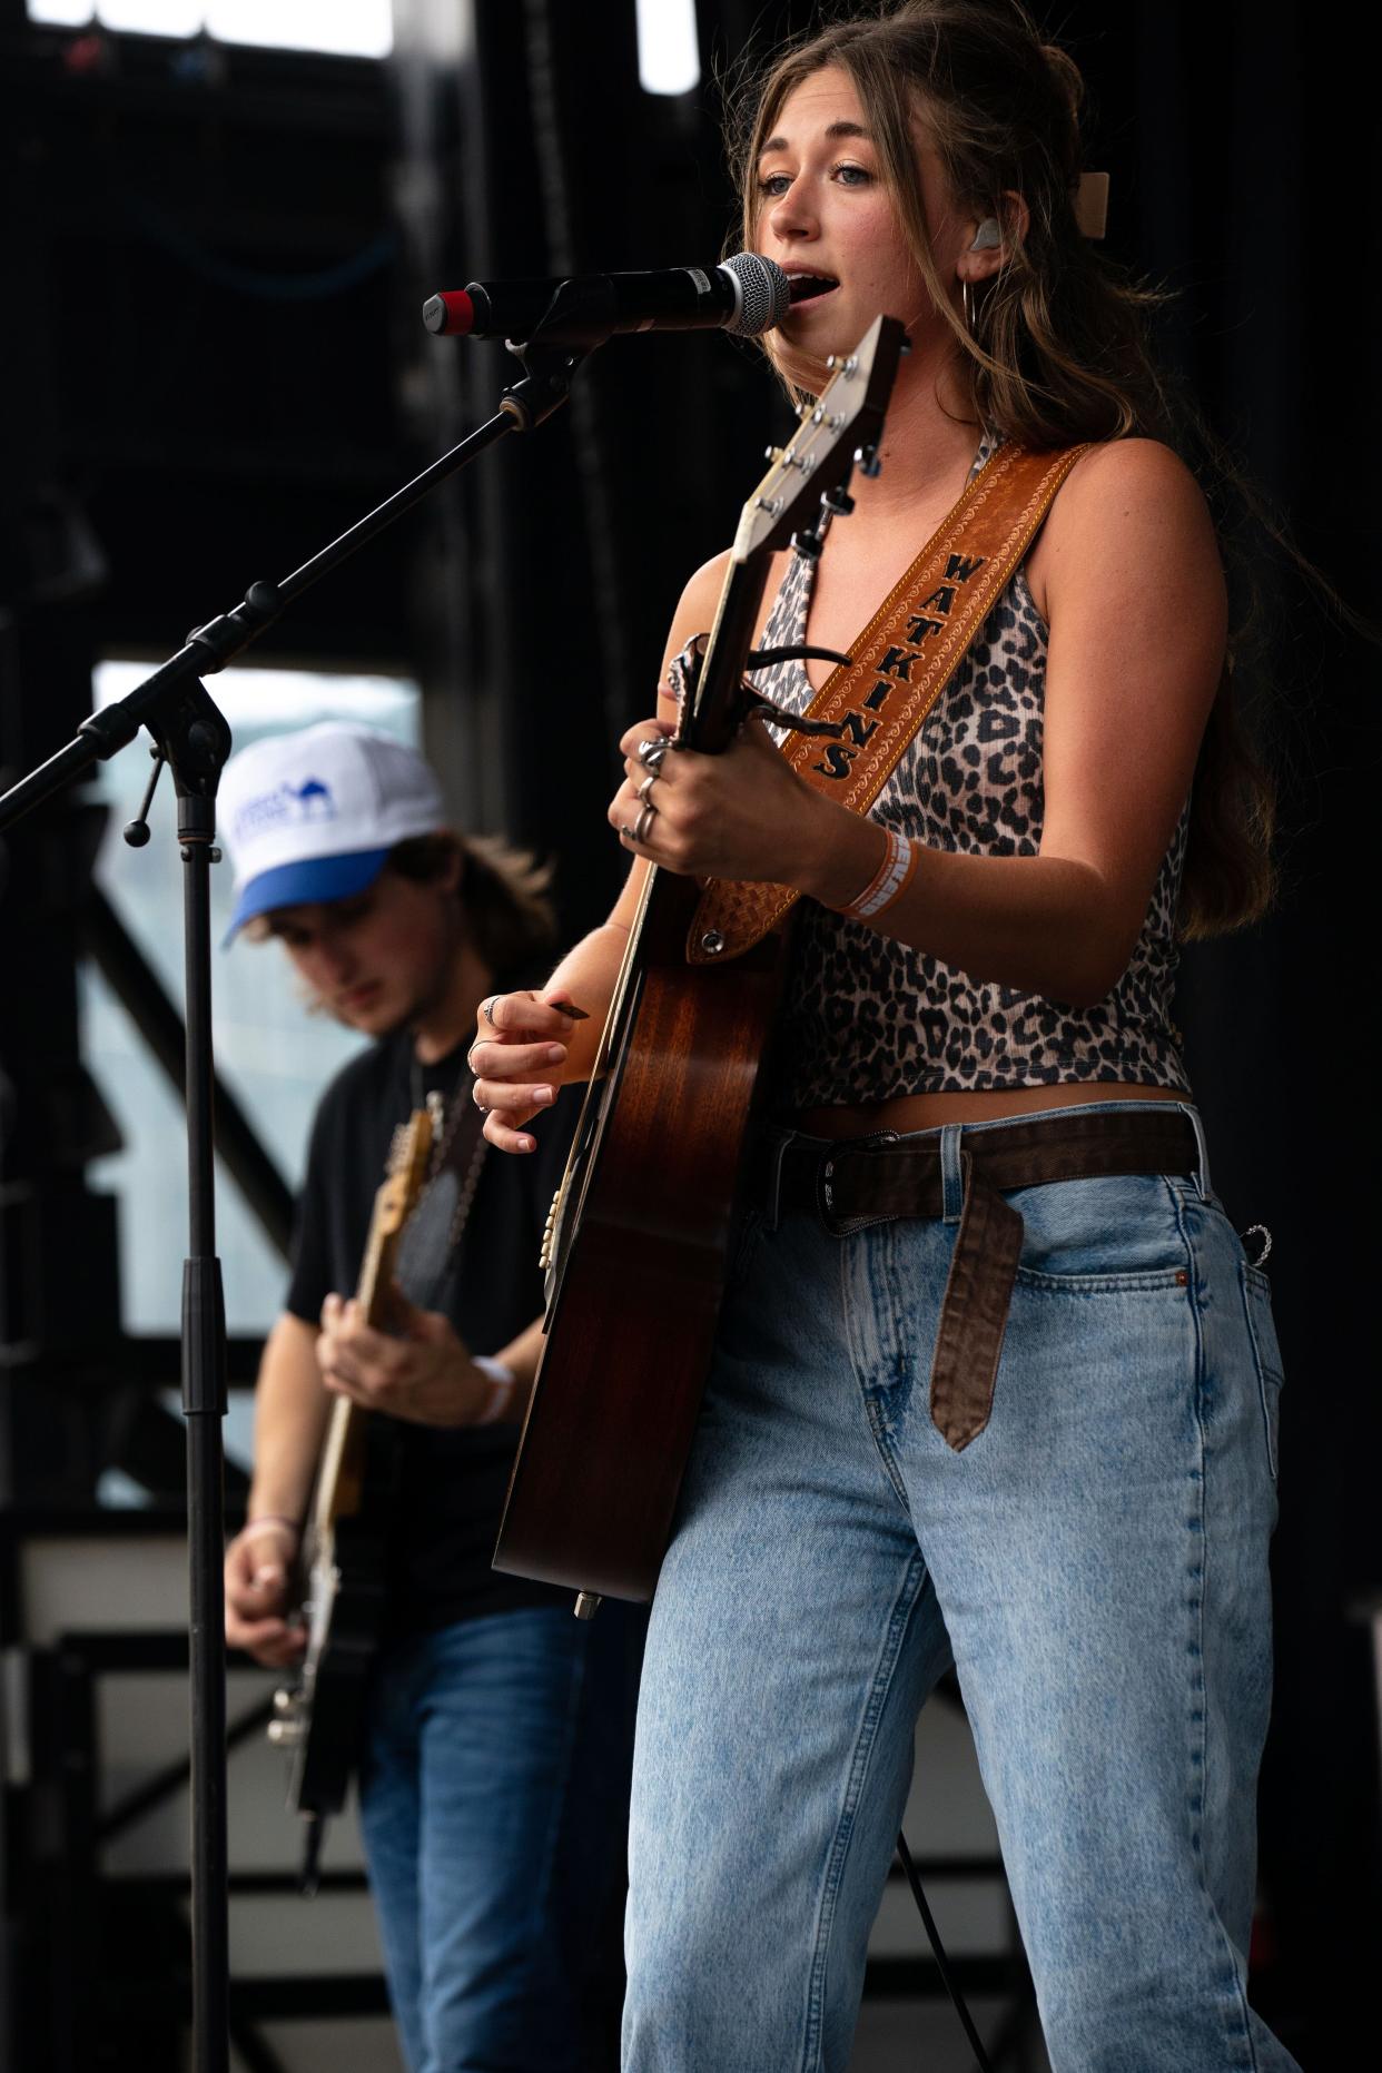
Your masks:
<path fill-rule="evenodd" d="M 365 1242 L 356 1302 L 365 1323 L 387 1331 L 394 1267 L 404 1225 L 423 1194 L 433 1117 L 414 1109 L 394 1132 L 383 1186 Z M 365 1683 L 383 1623 L 383 1555 L 396 1495 L 396 1447 L 350 1397 L 336 1397 L 303 1540 L 298 1679 L 273 1694 L 269 1741 L 290 1750 L 288 1810 L 309 1822 L 303 1882 L 311 1891 L 321 1824 L 346 1804 L 358 1758 Z"/>

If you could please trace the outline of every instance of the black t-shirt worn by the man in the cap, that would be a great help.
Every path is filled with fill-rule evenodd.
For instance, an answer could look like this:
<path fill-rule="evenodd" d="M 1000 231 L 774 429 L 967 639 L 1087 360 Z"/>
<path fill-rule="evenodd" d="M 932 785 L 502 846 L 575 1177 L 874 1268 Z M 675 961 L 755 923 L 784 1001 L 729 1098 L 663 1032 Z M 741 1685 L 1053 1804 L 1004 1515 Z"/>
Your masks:
<path fill-rule="evenodd" d="M 332 1080 L 313 1121 L 298 1198 L 286 1300 L 294 1316 L 315 1325 L 325 1296 L 354 1294 L 394 1130 L 412 1113 L 419 1088 L 441 1092 L 448 1105 L 458 1092 L 468 1099 L 464 1057 L 466 1045 L 458 1045 L 435 1066 L 419 1066 L 412 1036 L 400 1032 Z M 472 1354 L 499 1352 L 543 1310 L 539 1248 L 578 1113 L 580 1090 L 566 1088 L 530 1126 L 535 1153 L 483 1153 L 454 1271 L 439 1296 L 421 1298 L 450 1316 Z M 568 1594 L 489 1567 L 518 1426 L 390 1426 L 400 1443 L 390 1631 L 450 1627 L 514 1605 L 564 1605 Z"/>

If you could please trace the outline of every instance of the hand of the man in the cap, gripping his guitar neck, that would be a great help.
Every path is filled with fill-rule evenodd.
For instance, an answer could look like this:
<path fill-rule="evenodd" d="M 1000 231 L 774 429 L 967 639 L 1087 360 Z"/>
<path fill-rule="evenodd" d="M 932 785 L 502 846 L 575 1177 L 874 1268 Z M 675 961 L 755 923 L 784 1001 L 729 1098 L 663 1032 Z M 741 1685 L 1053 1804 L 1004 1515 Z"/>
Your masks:
<path fill-rule="evenodd" d="M 358 1302 L 327 1296 L 321 1306 L 317 1366 L 321 1381 L 340 1397 L 369 1412 L 387 1412 L 410 1424 L 477 1426 L 522 1418 L 537 1341 L 528 1358 L 524 1333 L 506 1347 L 499 1362 L 477 1364 L 439 1310 L 419 1310 L 398 1289 L 390 1304 L 394 1333 L 373 1331 Z M 495 1368 L 512 1374 L 497 1379 Z"/>

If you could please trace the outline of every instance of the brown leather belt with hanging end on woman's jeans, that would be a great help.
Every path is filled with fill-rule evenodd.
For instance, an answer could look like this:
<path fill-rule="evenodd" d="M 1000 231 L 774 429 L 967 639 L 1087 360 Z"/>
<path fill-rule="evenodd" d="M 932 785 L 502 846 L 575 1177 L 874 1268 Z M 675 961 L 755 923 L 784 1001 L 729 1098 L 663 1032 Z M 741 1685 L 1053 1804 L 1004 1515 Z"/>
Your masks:
<path fill-rule="evenodd" d="M 959 1130 L 959 1186 L 945 1200 L 943 1132 L 845 1138 L 839 1144 L 765 1132 L 754 1144 L 746 1194 L 775 1227 L 810 1211 L 847 1238 L 891 1217 L 959 1217 L 930 1366 L 930 1416 L 959 1453 L 988 1424 L 1007 1310 L 1021 1258 L 1021 1215 L 1003 1200 L 1013 1188 L 1111 1173 L 1196 1173 L 1200 1144 L 1183 1109 L 1129 1105 L 1125 1115 L 1026 1117 Z"/>

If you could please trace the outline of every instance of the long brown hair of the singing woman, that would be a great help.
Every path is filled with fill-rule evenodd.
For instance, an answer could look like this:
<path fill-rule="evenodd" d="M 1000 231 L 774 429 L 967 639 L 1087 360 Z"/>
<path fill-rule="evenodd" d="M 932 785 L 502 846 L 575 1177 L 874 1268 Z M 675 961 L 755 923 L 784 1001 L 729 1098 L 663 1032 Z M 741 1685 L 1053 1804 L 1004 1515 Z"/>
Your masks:
<path fill-rule="evenodd" d="M 1193 415 L 1150 357 L 1146 313 L 1160 296 L 1117 274 L 1079 230 L 1084 85 L 1073 60 L 1042 41 L 1021 0 L 901 0 L 872 15 L 854 10 L 779 54 L 738 97 L 738 114 L 731 108 L 729 162 L 750 249 L 762 211 L 762 145 L 785 97 L 825 66 L 847 73 L 860 97 L 897 222 L 955 334 L 976 421 L 1032 448 L 1138 433 L 1216 452 L 1193 437 Z M 1028 209 L 1026 234 L 1005 238 L 1003 265 L 974 292 L 972 330 L 930 253 L 912 129 L 918 116 L 966 214 L 1011 224 L 1011 193 Z M 1268 908 L 1272 821 L 1272 784 L 1243 740 L 1225 668 L 1191 788 L 1179 910 L 1185 939 L 1241 927 Z"/>

